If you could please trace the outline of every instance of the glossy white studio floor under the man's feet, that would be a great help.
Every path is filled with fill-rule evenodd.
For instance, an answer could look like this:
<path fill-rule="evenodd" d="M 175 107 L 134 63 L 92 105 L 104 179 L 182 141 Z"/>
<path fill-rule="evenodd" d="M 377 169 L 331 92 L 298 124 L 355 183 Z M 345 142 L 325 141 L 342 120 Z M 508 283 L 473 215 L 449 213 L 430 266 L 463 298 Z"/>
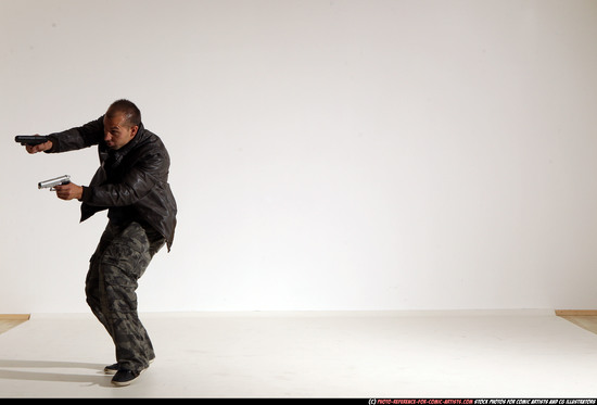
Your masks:
<path fill-rule="evenodd" d="M 0 334 L 0 397 L 597 397 L 597 334 L 551 312 L 144 314 L 157 358 L 113 388 L 87 314 Z"/>

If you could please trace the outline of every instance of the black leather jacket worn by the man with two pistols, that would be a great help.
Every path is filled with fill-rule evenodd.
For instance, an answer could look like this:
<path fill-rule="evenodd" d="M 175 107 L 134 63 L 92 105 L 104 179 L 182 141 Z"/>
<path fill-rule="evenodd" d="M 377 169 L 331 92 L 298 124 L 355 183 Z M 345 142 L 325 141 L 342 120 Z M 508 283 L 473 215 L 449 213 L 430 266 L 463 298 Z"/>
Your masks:
<path fill-rule="evenodd" d="M 100 168 L 82 188 L 81 222 L 102 210 L 122 210 L 162 233 L 170 250 L 177 207 L 168 185 L 170 159 L 160 137 L 141 124 L 132 140 L 111 150 L 103 141 L 103 116 L 49 137 L 49 153 L 98 145 Z"/>

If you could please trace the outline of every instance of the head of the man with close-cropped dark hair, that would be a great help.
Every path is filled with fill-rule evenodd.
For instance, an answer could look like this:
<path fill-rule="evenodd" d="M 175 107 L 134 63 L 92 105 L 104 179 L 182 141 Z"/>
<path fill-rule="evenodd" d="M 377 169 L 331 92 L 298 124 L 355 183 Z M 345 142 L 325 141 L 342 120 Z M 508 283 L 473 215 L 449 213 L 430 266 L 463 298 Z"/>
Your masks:
<path fill-rule="evenodd" d="M 130 142 L 139 130 L 141 112 L 128 100 L 117 100 L 110 105 L 104 117 L 104 142 L 118 150 Z"/>

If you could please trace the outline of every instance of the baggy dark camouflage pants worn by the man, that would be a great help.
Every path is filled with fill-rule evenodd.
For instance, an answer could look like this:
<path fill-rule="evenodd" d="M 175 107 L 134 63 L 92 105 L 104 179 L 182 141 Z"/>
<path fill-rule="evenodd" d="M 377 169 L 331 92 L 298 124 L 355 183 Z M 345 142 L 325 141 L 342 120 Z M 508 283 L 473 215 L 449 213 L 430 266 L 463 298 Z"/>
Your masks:
<path fill-rule="evenodd" d="M 148 332 L 137 314 L 137 280 L 164 238 L 138 223 L 107 224 L 91 256 L 85 282 L 87 303 L 116 346 L 116 360 L 141 370 L 155 357 Z"/>

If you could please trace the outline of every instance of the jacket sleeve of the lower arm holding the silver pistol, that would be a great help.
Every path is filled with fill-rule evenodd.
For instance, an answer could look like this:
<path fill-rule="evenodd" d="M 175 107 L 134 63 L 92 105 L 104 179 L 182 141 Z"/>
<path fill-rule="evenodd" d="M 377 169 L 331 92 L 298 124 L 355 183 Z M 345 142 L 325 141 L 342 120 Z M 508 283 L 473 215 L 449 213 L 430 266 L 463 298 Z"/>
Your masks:
<path fill-rule="evenodd" d="M 119 182 L 84 187 L 80 200 L 99 207 L 132 205 L 161 187 L 162 179 L 167 178 L 168 167 L 167 153 L 154 151 L 128 168 Z"/>

